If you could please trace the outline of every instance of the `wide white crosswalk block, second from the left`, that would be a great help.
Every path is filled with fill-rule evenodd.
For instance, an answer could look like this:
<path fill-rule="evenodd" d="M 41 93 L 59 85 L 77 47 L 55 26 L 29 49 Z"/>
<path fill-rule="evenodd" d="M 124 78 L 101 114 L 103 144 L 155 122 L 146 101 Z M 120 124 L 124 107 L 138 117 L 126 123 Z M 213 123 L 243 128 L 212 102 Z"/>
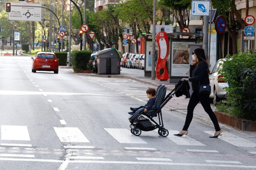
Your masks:
<path fill-rule="evenodd" d="M 54 127 L 61 142 L 89 142 L 77 127 Z"/>

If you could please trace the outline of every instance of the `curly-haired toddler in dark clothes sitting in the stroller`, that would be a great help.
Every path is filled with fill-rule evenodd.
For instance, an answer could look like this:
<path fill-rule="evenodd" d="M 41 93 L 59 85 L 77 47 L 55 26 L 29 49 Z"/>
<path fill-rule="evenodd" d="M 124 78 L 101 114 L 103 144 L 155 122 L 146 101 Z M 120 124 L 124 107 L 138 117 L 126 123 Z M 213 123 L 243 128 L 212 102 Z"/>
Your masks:
<path fill-rule="evenodd" d="M 133 115 L 137 110 L 141 109 L 141 108 L 145 108 L 144 112 L 147 112 L 147 110 L 151 109 L 153 107 L 153 105 L 155 104 L 156 98 L 156 89 L 154 88 L 149 88 L 146 91 L 147 97 L 149 98 L 147 104 L 145 104 L 145 106 L 140 106 L 138 108 L 133 108 L 131 107 L 130 109 L 132 110 L 132 112 L 128 112 L 129 114 Z"/>

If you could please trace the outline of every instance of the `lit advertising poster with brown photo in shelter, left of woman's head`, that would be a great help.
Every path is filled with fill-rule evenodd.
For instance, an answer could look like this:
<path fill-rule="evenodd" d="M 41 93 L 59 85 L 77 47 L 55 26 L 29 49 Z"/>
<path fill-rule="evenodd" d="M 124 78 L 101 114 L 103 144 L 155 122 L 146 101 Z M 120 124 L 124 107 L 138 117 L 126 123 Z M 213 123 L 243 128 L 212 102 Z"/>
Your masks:
<path fill-rule="evenodd" d="M 190 42 L 188 42 L 190 41 Z M 188 77 L 189 74 L 189 47 L 188 44 L 195 43 L 192 40 L 172 41 L 171 77 Z"/>

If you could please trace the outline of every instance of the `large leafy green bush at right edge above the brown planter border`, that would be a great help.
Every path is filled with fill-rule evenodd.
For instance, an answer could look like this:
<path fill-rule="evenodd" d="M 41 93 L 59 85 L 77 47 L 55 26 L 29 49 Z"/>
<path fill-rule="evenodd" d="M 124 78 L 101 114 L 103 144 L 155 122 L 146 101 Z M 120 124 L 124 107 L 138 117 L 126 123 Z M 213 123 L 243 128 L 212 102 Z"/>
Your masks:
<path fill-rule="evenodd" d="M 256 121 L 256 55 L 249 51 L 228 58 L 219 74 L 228 83 L 229 114 Z"/>

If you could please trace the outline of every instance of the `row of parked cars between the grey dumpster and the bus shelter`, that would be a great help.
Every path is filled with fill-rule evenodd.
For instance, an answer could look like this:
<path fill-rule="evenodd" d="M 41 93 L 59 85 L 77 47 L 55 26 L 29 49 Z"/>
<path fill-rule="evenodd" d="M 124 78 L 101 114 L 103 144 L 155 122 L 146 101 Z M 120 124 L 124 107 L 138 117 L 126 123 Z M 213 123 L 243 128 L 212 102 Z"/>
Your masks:
<path fill-rule="evenodd" d="M 144 54 L 124 53 L 121 58 L 121 66 L 125 68 L 141 69 L 145 67 Z"/>

